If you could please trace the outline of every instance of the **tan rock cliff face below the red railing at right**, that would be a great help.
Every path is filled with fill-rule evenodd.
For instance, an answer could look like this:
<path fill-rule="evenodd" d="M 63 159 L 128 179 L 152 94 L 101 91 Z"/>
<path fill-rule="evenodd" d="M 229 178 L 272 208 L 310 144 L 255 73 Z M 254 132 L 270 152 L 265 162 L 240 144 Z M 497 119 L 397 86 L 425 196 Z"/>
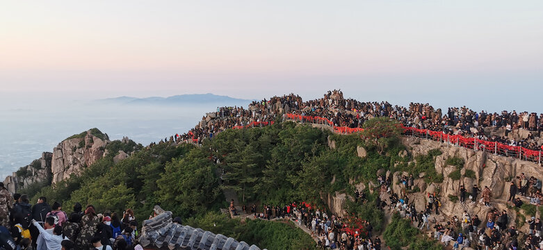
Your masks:
<path fill-rule="evenodd" d="M 543 179 L 543 169 L 535 163 L 530 163 L 524 160 L 508 158 L 503 156 L 494 156 L 492 152 L 473 151 L 461 147 L 448 146 L 432 140 L 421 140 L 418 138 L 403 138 L 403 143 L 410 148 L 413 156 L 419 154 L 427 154 L 431 149 L 440 149 L 442 154 L 436 157 L 435 169 L 438 174 L 443 174 L 443 183 L 426 184 L 423 179 L 419 178 L 415 181 L 415 185 L 419 187 L 421 192 L 410 194 L 410 199 L 414 201 L 416 210 L 422 210 L 426 206 L 426 197 L 428 193 L 439 193 L 441 201 L 441 212 L 447 217 L 456 215 L 461 217 L 462 212 L 467 210 L 471 215 L 478 215 L 480 218 L 486 218 L 487 213 L 493 208 L 499 210 L 508 210 L 506 201 L 509 195 L 508 179 L 514 178 L 521 173 L 526 176 L 534 176 L 535 178 Z M 458 180 L 448 177 L 451 172 L 457 167 L 447 165 L 448 158 L 462 158 L 464 167 L 460 170 L 461 177 Z M 475 178 L 464 176 L 467 170 L 475 173 Z M 407 173 L 393 173 L 393 191 L 396 194 L 401 193 L 403 185 L 399 184 L 402 175 Z M 490 207 L 484 206 L 483 203 L 476 202 L 460 203 L 459 201 L 451 201 L 449 196 L 458 197 L 460 194 L 460 185 L 464 185 L 467 192 L 471 193 L 471 188 L 477 184 L 481 189 L 488 186 L 492 190 L 492 199 Z M 468 199 L 468 197 L 466 197 Z M 480 194 L 477 199 L 479 201 Z M 528 202 L 524 200 L 524 202 Z M 510 204 L 511 205 L 511 204 Z M 510 211 L 510 223 L 514 224 L 516 213 Z M 437 221 L 445 219 L 444 217 L 435 217 Z"/>

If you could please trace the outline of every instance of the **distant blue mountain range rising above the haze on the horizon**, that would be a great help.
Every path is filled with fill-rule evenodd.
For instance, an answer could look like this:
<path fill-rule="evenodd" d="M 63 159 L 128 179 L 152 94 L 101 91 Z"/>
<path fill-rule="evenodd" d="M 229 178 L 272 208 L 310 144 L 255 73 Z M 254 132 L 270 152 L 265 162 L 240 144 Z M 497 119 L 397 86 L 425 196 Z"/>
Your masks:
<path fill-rule="evenodd" d="M 172 97 L 115 97 L 108 99 L 99 99 L 99 103 L 115 103 L 115 104 L 126 104 L 126 105 L 174 105 L 174 104 L 188 104 L 188 103 L 218 103 L 218 104 L 229 104 L 229 103 L 239 103 L 244 106 L 254 100 L 248 99 L 237 99 L 233 97 L 221 96 L 216 94 L 180 94 Z"/>

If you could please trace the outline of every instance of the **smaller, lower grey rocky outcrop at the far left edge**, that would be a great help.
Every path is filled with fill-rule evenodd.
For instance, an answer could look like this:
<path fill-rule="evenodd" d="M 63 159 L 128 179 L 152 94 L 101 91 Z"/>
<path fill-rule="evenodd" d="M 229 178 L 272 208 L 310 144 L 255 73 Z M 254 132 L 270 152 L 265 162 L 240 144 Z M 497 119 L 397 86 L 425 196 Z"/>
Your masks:
<path fill-rule="evenodd" d="M 3 184 L 12 193 L 33 183 L 46 182 L 46 184 L 50 184 L 52 158 L 53 153 L 43 152 L 41 158 L 33 160 L 30 165 L 21 167 L 17 172 L 7 176 Z"/>

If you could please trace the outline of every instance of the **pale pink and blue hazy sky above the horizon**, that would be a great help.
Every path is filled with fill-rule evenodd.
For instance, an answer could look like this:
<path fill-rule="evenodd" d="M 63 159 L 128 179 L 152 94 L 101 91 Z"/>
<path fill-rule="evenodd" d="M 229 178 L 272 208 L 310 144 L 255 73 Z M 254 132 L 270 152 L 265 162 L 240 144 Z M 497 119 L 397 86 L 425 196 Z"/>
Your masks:
<path fill-rule="evenodd" d="M 0 94 L 348 97 L 543 112 L 543 1 L 3 1 Z M 503 108 L 501 108 L 503 106 Z"/>

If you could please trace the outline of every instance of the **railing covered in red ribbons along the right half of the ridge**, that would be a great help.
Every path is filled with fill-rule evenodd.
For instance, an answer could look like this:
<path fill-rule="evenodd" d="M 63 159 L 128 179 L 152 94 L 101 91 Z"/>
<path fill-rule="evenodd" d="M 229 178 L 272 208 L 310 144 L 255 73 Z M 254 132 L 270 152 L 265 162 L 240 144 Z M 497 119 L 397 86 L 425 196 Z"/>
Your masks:
<path fill-rule="evenodd" d="M 295 122 L 307 122 L 313 124 L 324 124 L 332 126 L 334 133 L 340 134 L 352 134 L 364 131 L 364 128 L 349 128 L 346 126 L 334 126 L 334 123 L 330 119 L 324 117 L 311 117 L 307 115 L 294 115 L 286 114 L 287 119 L 294 120 Z M 496 155 L 502 155 L 512 158 L 518 158 L 521 160 L 528 160 L 534 163 L 541 164 L 542 151 L 526 149 L 520 146 L 510 146 L 508 144 L 502 144 L 499 142 L 489 142 L 480 140 L 477 138 L 465 138 L 462 135 L 449 135 L 441 131 L 430 131 L 428 129 L 419 129 L 402 126 L 404 134 L 413 135 L 420 138 L 427 138 L 438 142 L 446 142 L 449 144 L 455 144 L 458 147 L 464 147 L 467 149 L 489 151 Z M 543 147 L 542 147 L 543 149 Z"/>

